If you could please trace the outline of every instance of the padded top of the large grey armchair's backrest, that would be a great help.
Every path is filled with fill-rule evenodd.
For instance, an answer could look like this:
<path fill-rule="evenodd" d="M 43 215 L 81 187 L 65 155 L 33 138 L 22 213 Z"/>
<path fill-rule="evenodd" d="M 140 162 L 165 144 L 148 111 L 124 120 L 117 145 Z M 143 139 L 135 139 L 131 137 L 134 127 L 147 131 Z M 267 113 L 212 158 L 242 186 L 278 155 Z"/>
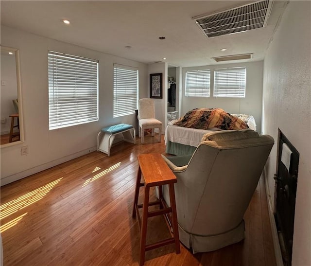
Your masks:
<path fill-rule="evenodd" d="M 226 142 L 226 141 L 237 141 L 251 138 L 258 138 L 259 134 L 252 129 L 242 130 L 224 130 L 212 133 L 206 133 L 201 142 L 213 141 L 213 142 Z"/>

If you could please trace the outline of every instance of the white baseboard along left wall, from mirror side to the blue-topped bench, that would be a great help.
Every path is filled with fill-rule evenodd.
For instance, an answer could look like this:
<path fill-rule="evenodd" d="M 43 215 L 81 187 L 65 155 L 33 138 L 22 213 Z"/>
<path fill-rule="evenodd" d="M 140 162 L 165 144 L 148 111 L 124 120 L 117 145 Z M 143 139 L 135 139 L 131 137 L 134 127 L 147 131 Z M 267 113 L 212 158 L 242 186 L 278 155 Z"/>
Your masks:
<path fill-rule="evenodd" d="M 14 175 L 11 175 L 11 176 L 7 176 L 7 177 L 3 177 L 0 180 L 0 185 L 4 186 L 6 184 L 12 183 L 12 182 L 17 181 L 19 179 L 22 179 L 24 177 L 29 177 L 31 175 L 34 175 L 34 174 L 38 173 L 38 172 L 41 172 L 41 171 L 46 170 L 46 169 L 49 169 L 49 168 L 51 168 L 51 167 L 53 167 L 55 165 L 58 165 L 58 164 L 61 164 L 63 162 L 66 162 L 66 161 L 78 158 L 80 156 L 83 156 L 83 155 L 85 155 L 87 153 L 90 153 L 90 152 L 93 152 L 93 151 L 96 151 L 96 150 L 97 150 L 96 146 L 95 147 L 91 147 L 89 149 L 86 149 L 86 150 L 83 150 L 83 151 L 80 151 L 80 152 L 77 152 L 77 153 L 74 153 L 74 154 L 70 154 L 70 155 L 62 157 L 60 159 L 52 160 L 50 162 L 47 162 L 47 163 L 35 166 L 33 168 L 30 168 L 30 169 L 27 169 L 25 171 L 19 172 L 17 174 L 14 174 Z"/>

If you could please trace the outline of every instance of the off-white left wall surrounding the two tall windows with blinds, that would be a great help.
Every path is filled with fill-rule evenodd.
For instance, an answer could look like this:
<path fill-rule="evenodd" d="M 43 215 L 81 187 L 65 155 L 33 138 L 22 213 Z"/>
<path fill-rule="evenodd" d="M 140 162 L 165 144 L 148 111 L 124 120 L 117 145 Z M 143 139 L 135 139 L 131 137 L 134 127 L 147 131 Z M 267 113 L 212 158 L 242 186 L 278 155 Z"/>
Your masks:
<path fill-rule="evenodd" d="M 99 130 L 107 125 L 136 124 L 136 115 L 113 118 L 113 64 L 139 69 L 139 98 L 147 97 L 147 65 L 1 25 L 1 45 L 20 52 L 25 142 L 1 147 L 1 185 L 96 150 Z M 99 121 L 49 130 L 48 50 L 99 60 Z M 21 146 L 29 154 L 21 156 Z"/>

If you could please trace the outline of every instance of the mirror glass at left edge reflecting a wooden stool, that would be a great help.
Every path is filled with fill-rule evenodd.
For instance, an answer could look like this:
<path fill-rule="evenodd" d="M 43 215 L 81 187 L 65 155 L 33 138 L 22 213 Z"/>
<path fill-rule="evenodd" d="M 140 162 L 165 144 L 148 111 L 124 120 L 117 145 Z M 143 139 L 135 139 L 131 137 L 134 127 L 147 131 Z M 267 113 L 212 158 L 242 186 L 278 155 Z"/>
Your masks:
<path fill-rule="evenodd" d="M 19 141 L 17 65 L 15 51 L 1 47 L 0 144 Z"/>

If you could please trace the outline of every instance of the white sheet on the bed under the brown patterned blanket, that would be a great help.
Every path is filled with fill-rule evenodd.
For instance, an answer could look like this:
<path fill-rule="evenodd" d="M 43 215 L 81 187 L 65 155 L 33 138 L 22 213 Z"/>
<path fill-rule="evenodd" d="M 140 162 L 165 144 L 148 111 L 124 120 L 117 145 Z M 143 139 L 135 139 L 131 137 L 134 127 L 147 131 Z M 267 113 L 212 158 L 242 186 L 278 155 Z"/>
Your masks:
<path fill-rule="evenodd" d="M 167 144 L 167 142 L 170 141 L 170 142 L 177 142 L 180 144 L 197 147 L 200 144 L 201 139 L 204 134 L 209 133 L 209 132 L 215 132 L 217 130 L 221 130 L 219 128 L 204 130 L 204 129 L 195 129 L 195 128 L 177 126 L 177 125 L 172 124 L 173 121 L 170 121 L 165 129 L 165 135 L 164 135 L 165 144 Z M 249 126 L 250 129 L 253 129 L 256 131 L 256 123 L 255 123 L 255 119 L 253 116 L 251 116 L 251 118 L 248 120 L 247 125 Z"/>

